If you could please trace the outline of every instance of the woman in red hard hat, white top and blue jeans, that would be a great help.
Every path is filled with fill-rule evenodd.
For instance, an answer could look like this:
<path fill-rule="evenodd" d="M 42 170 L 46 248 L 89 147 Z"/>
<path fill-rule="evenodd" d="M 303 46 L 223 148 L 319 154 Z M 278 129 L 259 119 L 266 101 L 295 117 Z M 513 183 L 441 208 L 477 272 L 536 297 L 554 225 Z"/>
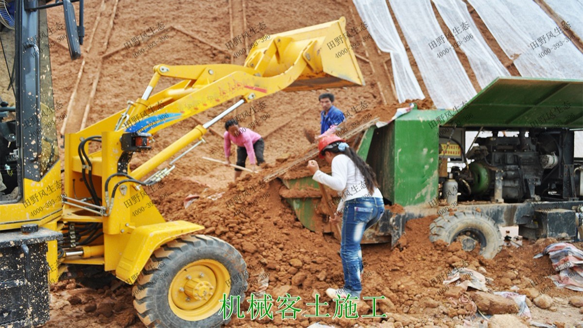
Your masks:
<path fill-rule="evenodd" d="M 360 298 L 363 270 L 360 241 L 364 231 L 375 224 L 384 213 L 381 191 L 377 188 L 373 169 L 346 144 L 345 140 L 330 135 L 318 144 L 320 158 L 332 165 L 332 176 L 319 170 L 315 160 L 308 162 L 312 179 L 339 192 L 340 203 L 332 222 L 342 217 L 340 257 L 344 271 L 344 288 L 328 288 L 332 299 L 346 298 L 348 294 Z"/>

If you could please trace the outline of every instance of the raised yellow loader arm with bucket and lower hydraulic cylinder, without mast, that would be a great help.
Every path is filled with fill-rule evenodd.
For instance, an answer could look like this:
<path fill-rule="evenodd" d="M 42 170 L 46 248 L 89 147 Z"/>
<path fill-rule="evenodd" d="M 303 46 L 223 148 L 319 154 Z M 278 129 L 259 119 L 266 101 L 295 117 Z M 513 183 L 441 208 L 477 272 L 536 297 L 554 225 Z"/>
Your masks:
<path fill-rule="evenodd" d="M 354 54 L 336 58 L 338 56 L 335 57 L 327 46 L 335 37 L 343 36 L 344 25 L 341 18 L 275 34 L 269 39 L 264 37 L 265 41 L 251 51 L 242 67 L 230 64 L 156 65 L 143 96 L 128 107 L 118 128 L 155 134 L 233 98 L 251 102 L 280 90 L 362 85 L 363 78 Z M 161 77 L 182 81 L 150 95 Z M 296 81 L 298 83 L 293 85 Z M 226 114 L 229 112 L 223 112 L 222 116 Z M 141 179 L 184 146 L 201 138 L 208 127 L 196 127 L 135 169 L 131 176 Z"/>

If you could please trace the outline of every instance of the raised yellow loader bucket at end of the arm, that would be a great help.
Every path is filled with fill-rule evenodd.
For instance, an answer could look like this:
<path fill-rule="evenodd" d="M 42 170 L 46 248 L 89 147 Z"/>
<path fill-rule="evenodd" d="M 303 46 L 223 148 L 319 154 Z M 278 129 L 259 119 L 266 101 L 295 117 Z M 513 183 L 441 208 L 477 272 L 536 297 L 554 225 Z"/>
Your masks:
<path fill-rule="evenodd" d="M 346 37 L 346 19 L 341 17 L 302 29 L 264 36 L 255 42 L 245 60 L 245 67 L 269 77 L 286 71 L 298 60 L 307 65 L 285 91 L 339 88 L 364 85 L 350 40 Z"/>

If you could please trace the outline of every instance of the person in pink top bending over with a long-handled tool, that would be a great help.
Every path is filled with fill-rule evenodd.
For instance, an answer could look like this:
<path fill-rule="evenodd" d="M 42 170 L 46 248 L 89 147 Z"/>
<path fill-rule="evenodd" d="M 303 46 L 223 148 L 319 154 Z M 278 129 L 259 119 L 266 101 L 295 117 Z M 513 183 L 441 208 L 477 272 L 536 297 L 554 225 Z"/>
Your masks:
<path fill-rule="evenodd" d="M 239 127 L 239 123 L 234 118 L 224 124 L 224 156 L 225 165 L 230 165 L 231 142 L 237 145 L 237 165 L 245 167 L 245 160 L 249 156 L 249 162 L 256 170 L 260 164 L 265 163 L 263 151 L 265 142 L 261 135 L 248 128 Z M 241 176 L 241 169 L 235 169 L 235 180 Z"/>

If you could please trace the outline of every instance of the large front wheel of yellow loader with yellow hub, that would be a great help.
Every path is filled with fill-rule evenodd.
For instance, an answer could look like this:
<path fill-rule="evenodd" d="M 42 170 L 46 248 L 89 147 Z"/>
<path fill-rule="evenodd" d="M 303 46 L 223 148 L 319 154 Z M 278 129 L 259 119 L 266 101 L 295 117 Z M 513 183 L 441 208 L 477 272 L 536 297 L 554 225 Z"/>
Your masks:
<path fill-rule="evenodd" d="M 227 299 L 241 295 L 243 302 L 246 272 L 243 257 L 229 243 L 204 235 L 179 238 L 157 249 L 146 263 L 132 289 L 134 308 L 147 327 L 218 327 L 230 322 L 230 318 L 223 320 L 220 312 L 222 294 L 227 294 Z M 196 288 L 188 287 L 189 283 Z M 206 291 L 210 295 L 195 295 L 192 301 L 184 287 L 191 292 L 199 292 L 201 287 L 204 295 Z M 210 297 L 208 301 L 206 297 Z M 195 309 L 188 308 L 194 305 Z"/>

